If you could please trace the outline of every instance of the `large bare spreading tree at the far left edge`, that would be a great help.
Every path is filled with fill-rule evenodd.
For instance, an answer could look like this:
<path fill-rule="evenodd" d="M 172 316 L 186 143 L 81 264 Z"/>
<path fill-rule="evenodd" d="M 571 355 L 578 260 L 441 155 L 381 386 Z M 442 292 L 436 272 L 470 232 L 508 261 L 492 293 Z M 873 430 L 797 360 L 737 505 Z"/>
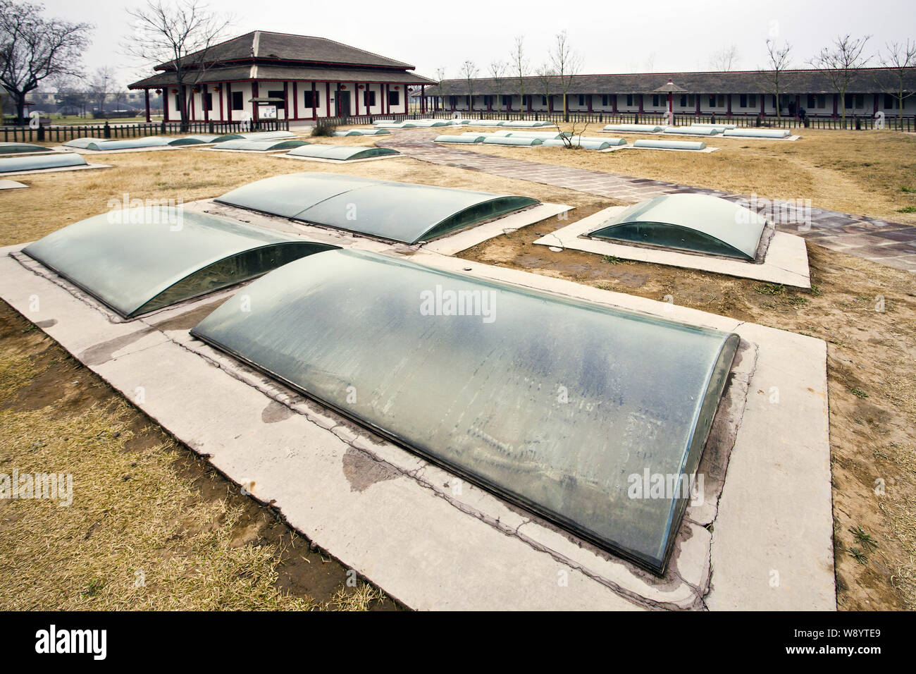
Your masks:
<path fill-rule="evenodd" d="M 82 75 L 80 59 L 92 26 L 45 18 L 45 7 L 0 0 L 0 83 L 26 122 L 26 95 L 54 75 Z"/>

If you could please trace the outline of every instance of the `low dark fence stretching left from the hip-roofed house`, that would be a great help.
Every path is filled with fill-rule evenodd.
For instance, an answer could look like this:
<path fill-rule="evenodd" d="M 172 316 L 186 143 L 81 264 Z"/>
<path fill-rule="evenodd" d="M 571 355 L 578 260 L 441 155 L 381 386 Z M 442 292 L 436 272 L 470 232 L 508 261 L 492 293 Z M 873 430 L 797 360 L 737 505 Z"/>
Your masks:
<path fill-rule="evenodd" d="M 286 119 L 261 119 L 247 122 L 150 122 L 148 124 L 77 124 L 70 127 L 0 127 L 4 142 L 65 143 L 73 138 L 136 138 L 140 136 L 171 136 L 188 134 L 217 134 L 245 131 L 289 131 Z"/>

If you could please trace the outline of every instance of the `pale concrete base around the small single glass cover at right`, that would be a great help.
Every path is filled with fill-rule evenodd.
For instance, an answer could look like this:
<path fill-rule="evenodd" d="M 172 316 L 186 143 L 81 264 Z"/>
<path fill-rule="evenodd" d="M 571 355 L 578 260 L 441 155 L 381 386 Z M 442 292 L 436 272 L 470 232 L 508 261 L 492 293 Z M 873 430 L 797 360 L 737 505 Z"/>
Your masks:
<path fill-rule="evenodd" d="M 671 267 L 682 267 L 699 271 L 713 271 L 718 274 L 737 276 L 743 279 L 755 279 L 770 283 L 782 283 L 796 288 L 811 288 L 811 271 L 808 268 L 808 249 L 802 237 L 784 232 L 776 232 L 769 242 L 763 262 L 742 262 L 726 260 L 704 255 L 691 255 L 676 250 L 662 250 L 627 246 L 623 243 L 599 238 L 588 238 L 612 215 L 625 210 L 627 206 L 612 206 L 584 217 L 571 225 L 562 227 L 534 243 L 554 249 L 583 250 L 596 255 L 613 255 L 623 260 L 638 260 L 665 264 Z"/>

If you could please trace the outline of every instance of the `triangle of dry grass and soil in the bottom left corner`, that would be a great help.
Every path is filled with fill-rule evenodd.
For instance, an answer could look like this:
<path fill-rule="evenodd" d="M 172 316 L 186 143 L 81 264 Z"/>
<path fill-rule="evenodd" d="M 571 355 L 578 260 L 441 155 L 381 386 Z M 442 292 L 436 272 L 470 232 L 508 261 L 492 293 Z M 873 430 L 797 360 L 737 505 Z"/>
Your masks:
<path fill-rule="evenodd" d="M 74 482 L 67 508 L 0 501 L 5 610 L 400 608 L 5 303 L 0 340 L 0 472 Z"/>

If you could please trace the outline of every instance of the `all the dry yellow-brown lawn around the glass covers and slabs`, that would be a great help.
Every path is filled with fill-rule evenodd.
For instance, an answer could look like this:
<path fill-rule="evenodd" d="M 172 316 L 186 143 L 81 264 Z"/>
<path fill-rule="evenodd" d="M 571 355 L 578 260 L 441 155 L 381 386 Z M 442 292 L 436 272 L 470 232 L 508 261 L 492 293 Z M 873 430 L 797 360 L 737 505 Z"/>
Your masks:
<path fill-rule="evenodd" d="M 878 140 L 868 143 L 857 138 L 864 133 L 822 133 L 837 138 L 806 135 L 796 143 L 764 141 L 753 146 L 736 140 L 735 148 L 711 155 L 649 151 L 597 155 L 479 147 L 474 151 L 543 162 L 594 161 L 605 171 L 768 197 L 804 198 L 817 182 L 820 192 L 816 199 L 811 195 L 815 205 L 865 215 L 894 213 L 895 208 L 911 203 L 913 196 L 900 189 L 916 187 L 912 171 L 906 168 L 916 164 L 909 138 L 885 139 L 878 134 Z M 855 142 L 843 142 L 843 135 L 856 137 Z M 371 145 L 387 138 L 391 137 L 321 142 Z M 114 168 L 17 177 L 30 189 L 0 193 L 0 245 L 33 240 L 103 213 L 110 199 L 120 201 L 125 193 L 130 198 L 191 201 L 296 171 L 528 194 L 575 206 L 571 220 L 617 204 L 590 194 L 409 158 L 338 166 L 177 150 L 106 155 L 99 160 Z M 711 160 L 716 163 L 708 163 Z M 867 169 L 874 169 L 870 179 Z M 758 178 L 744 171 L 756 171 Z M 791 176 L 797 176 L 797 181 Z M 842 189 L 820 185 L 824 180 L 834 180 Z M 894 219 L 912 221 L 906 217 L 912 216 L 900 214 Z M 809 245 L 814 287 L 804 292 L 532 245 L 535 238 L 567 224 L 547 220 L 462 255 L 652 299 L 670 294 L 677 304 L 827 340 L 837 601 L 841 609 L 850 610 L 916 609 L 913 274 Z M 884 311 L 876 311 L 878 297 L 884 299 Z M 2 441 L 4 447 L 12 447 L 5 465 L 26 471 L 59 462 L 78 466 L 80 473 L 97 481 L 93 498 L 79 508 L 76 503 L 71 508 L 42 502 L 0 504 L 4 534 L 0 549 L 6 561 L 0 569 L 0 606 L 333 608 L 341 604 L 343 600 L 334 599 L 342 589 L 340 575 L 330 587 L 322 586 L 323 591 L 302 590 L 309 587 L 309 576 L 303 575 L 304 562 L 290 566 L 290 560 L 296 559 L 290 550 L 297 554 L 307 550 L 307 542 L 289 529 L 282 536 L 271 534 L 263 524 L 275 522 L 269 511 L 241 499 L 237 487 L 189 450 L 175 447 L 157 425 L 6 307 L 0 307 L 0 340 L 5 354 L 0 360 Z M 876 480 L 883 481 L 883 494 L 876 493 Z M 864 543 L 863 536 L 877 547 Z M 57 546 L 63 546 L 61 554 L 49 555 L 48 550 Z M 39 549 L 43 554 L 38 554 Z M 138 569 L 146 572 L 146 591 L 137 591 L 132 584 Z M 338 565 L 334 573 L 340 572 Z M 296 585 L 297 578 L 306 580 Z M 300 591 L 294 591 L 297 587 Z M 761 587 L 766 588 L 766 579 Z M 359 605 L 378 605 L 374 589 L 361 586 L 350 594 L 359 592 L 363 593 Z"/>

